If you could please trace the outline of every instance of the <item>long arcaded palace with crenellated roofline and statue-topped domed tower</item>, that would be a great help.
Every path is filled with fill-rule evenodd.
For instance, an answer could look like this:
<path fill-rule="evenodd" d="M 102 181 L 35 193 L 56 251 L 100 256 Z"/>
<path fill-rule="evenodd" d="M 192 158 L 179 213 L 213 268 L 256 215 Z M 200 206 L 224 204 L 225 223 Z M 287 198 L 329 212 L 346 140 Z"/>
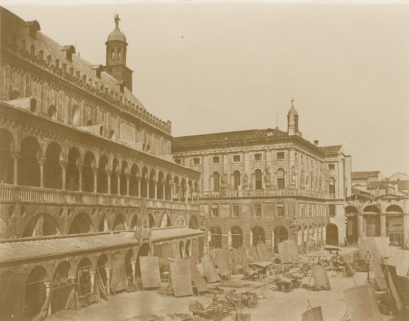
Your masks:
<path fill-rule="evenodd" d="M 62 309 L 61 289 L 94 293 L 96 273 L 108 293 L 124 290 L 163 244 L 197 261 L 200 172 L 172 160 L 171 122 L 132 93 L 118 15 L 105 66 L 36 20 L 0 15 L 2 319 L 37 315 L 50 290 L 50 313 Z"/>

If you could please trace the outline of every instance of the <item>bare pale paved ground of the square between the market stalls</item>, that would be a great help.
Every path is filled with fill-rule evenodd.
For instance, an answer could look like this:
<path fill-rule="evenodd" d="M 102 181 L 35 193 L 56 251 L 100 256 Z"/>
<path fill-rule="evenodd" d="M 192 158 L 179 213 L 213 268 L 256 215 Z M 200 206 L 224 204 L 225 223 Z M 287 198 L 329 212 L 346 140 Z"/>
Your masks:
<path fill-rule="evenodd" d="M 342 253 L 351 252 L 355 249 L 343 249 Z M 398 274 L 406 274 L 409 251 L 390 247 L 392 260 L 390 264 L 396 265 Z M 306 260 L 303 258 L 302 260 Z M 299 269 L 299 268 L 298 268 Z M 296 269 L 292 270 L 296 271 Z M 251 313 L 252 320 L 285 320 L 300 321 L 301 313 L 310 304 L 322 306 L 324 320 L 339 321 L 343 318 L 347 307 L 344 301 L 343 290 L 356 285 L 364 284 L 367 274 L 357 272 L 352 277 L 330 277 L 330 291 L 312 291 L 310 289 L 294 289 L 290 293 L 283 293 L 271 290 L 271 284 L 245 281 L 249 287 L 241 288 L 240 291 L 252 291 L 259 295 L 264 295 L 265 299 L 260 299 L 256 308 L 245 309 L 246 313 Z M 244 283 L 244 281 L 233 278 L 233 282 Z M 308 283 L 309 278 L 303 281 Z M 268 281 L 268 279 L 267 279 Z M 221 285 L 222 286 L 222 285 Z M 259 288 L 256 288 L 259 287 Z M 225 288 L 229 290 L 231 288 Z M 173 298 L 164 297 L 156 291 L 137 291 L 133 293 L 120 293 L 109 297 L 109 301 L 101 301 L 80 311 L 60 311 L 50 318 L 50 320 L 73 320 L 73 321 L 119 321 L 139 315 L 161 314 L 161 313 L 189 313 L 188 302 L 193 298 Z M 209 297 L 209 300 L 211 298 Z M 384 321 L 397 321 L 394 316 L 382 316 Z"/>

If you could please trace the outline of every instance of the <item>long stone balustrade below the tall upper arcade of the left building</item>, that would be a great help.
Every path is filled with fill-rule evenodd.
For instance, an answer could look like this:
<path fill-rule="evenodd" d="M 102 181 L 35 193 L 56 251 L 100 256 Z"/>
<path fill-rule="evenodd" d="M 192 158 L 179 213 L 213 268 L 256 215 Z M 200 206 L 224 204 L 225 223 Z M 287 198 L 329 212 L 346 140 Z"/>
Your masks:
<path fill-rule="evenodd" d="M 0 184 L 0 202 L 27 202 L 46 204 L 86 204 L 96 206 L 140 206 L 143 201 L 147 207 L 167 208 L 174 210 L 199 210 L 199 205 L 193 197 L 188 203 L 168 200 L 148 199 L 146 197 L 59 190 L 31 186 Z"/>

